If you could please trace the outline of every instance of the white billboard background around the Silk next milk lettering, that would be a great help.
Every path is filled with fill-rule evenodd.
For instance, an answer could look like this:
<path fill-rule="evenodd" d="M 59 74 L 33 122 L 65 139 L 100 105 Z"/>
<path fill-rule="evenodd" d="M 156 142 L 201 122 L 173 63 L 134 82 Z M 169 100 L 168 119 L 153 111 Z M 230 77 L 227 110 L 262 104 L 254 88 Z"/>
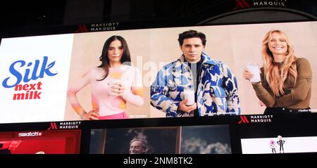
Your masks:
<path fill-rule="evenodd" d="M 73 34 L 2 39 L 0 46 L 0 123 L 63 120 L 72 46 Z M 44 73 L 43 78 L 27 82 L 27 84 L 42 82 L 42 89 L 39 90 L 42 91 L 40 99 L 13 101 L 14 93 L 25 93 L 25 91 L 15 91 L 15 87 L 2 86 L 2 82 L 7 77 L 11 77 L 9 85 L 16 82 L 16 77 L 9 72 L 11 64 L 16 60 L 24 60 L 25 65 L 20 67 L 21 64 L 17 63 L 15 69 L 24 76 L 25 69 L 29 68 L 30 75 L 32 75 L 35 60 L 39 60 L 38 76 L 44 56 L 48 57 L 46 67 L 55 61 L 55 65 L 49 71 L 58 74 L 48 76 Z M 32 65 L 27 67 L 30 62 Z M 20 84 L 25 83 L 21 80 Z"/>

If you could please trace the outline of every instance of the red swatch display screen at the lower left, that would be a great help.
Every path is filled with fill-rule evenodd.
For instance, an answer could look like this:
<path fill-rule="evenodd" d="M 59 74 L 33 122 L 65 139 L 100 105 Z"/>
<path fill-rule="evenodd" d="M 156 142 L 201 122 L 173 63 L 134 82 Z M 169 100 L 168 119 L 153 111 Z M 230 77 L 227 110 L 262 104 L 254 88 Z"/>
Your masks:
<path fill-rule="evenodd" d="M 80 153 L 80 130 L 2 132 L 0 133 L 0 153 Z"/>

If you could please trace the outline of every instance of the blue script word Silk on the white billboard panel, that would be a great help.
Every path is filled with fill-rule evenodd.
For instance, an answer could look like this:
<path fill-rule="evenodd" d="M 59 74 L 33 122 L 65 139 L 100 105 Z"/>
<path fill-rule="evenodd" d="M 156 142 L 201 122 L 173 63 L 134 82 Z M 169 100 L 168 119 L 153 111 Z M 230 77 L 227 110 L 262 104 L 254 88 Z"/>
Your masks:
<path fill-rule="evenodd" d="M 24 75 L 22 73 L 20 73 L 18 70 L 15 69 L 15 64 L 16 63 L 20 63 L 20 67 L 23 67 L 25 65 L 25 61 L 24 60 L 17 60 L 14 63 L 12 63 L 10 65 L 9 71 L 11 72 L 11 74 L 16 78 L 16 81 L 13 85 L 9 85 L 8 81 L 9 79 L 11 79 L 12 77 L 7 77 L 6 79 L 4 79 L 4 81 L 2 82 L 2 86 L 4 86 L 5 88 L 11 88 L 13 86 L 15 86 L 16 84 L 20 84 L 21 80 L 23 79 L 23 82 L 30 82 L 31 80 L 36 80 L 38 78 L 43 78 L 44 75 L 48 75 L 48 76 L 55 76 L 57 75 L 57 73 L 52 73 L 50 71 L 51 67 L 54 67 L 55 65 L 55 61 L 52 63 L 49 63 L 49 65 L 47 65 L 47 56 L 43 57 L 43 63 L 42 63 L 42 67 L 41 70 L 39 72 L 39 75 L 37 76 L 37 70 L 39 69 L 39 60 L 35 60 L 35 65 L 33 67 L 30 67 L 32 65 L 32 63 L 27 63 L 27 67 L 25 68 L 25 72 Z M 47 65 L 47 66 L 46 66 Z M 28 68 L 30 67 L 30 68 Z M 30 72 L 32 72 L 32 76 L 30 76 Z"/>

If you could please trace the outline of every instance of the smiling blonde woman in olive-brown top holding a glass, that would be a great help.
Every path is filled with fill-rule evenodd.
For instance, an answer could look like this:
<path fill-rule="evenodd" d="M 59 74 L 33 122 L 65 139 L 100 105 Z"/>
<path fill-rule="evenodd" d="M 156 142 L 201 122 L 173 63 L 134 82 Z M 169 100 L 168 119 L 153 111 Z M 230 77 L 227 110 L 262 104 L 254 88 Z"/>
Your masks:
<path fill-rule="evenodd" d="M 311 112 L 311 65 L 306 58 L 294 55 L 286 34 L 271 30 L 262 41 L 261 78 L 251 82 L 256 96 L 266 105 L 265 115 L 282 112 Z M 244 78 L 252 79 L 251 70 L 244 70 Z"/>

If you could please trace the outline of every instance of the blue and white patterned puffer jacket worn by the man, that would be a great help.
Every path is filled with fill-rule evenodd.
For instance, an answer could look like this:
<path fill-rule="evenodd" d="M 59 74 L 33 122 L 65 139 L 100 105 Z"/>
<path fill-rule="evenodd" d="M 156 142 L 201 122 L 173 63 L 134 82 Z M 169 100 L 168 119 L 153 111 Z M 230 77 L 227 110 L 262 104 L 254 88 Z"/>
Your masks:
<path fill-rule="evenodd" d="M 197 107 L 199 116 L 239 115 L 240 101 L 237 79 L 229 67 L 213 60 L 205 53 L 201 55 L 201 73 L 197 86 Z M 151 85 L 151 105 L 166 117 L 188 117 L 193 112 L 177 111 L 184 100 L 184 89 L 193 89 L 192 72 L 184 63 L 184 56 L 162 67 Z"/>

